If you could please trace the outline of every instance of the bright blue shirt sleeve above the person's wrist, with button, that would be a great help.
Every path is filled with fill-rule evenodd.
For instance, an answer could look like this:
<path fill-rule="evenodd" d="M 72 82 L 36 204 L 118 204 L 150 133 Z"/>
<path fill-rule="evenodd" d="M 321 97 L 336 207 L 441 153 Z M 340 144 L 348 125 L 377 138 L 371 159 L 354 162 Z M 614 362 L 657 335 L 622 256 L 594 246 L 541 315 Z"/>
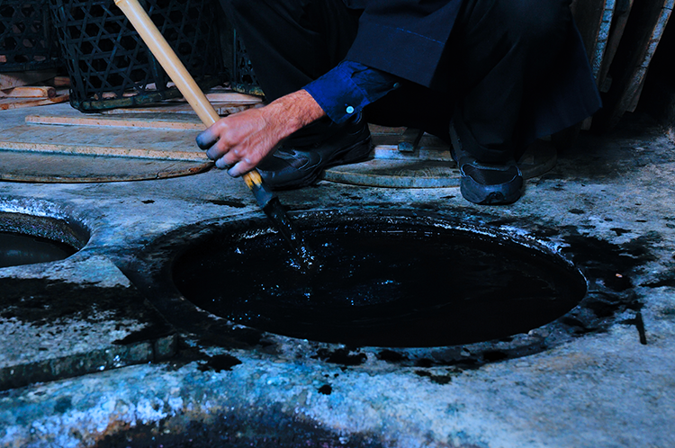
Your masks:
<path fill-rule="evenodd" d="M 359 117 L 366 105 L 399 85 L 397 76 L 345 60 L 304 89 L 319 103 L 330 120 L 344 123 Z"/>

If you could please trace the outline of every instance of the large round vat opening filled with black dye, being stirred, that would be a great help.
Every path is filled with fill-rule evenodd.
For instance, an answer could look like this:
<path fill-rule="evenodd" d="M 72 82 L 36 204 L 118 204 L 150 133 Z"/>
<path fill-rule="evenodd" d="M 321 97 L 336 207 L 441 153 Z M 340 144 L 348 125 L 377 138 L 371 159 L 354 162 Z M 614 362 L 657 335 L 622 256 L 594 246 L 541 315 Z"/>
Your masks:
<path fill-rule="evenodd" d="M 541 327 L 586 281 L 545 246 L 410 217 L 297 220 L 320 259 L 302 273 L 266 222 L 211 228 L 179 255 L 175 285 L 217 316 L 356 346 L 471 344 Z"/>

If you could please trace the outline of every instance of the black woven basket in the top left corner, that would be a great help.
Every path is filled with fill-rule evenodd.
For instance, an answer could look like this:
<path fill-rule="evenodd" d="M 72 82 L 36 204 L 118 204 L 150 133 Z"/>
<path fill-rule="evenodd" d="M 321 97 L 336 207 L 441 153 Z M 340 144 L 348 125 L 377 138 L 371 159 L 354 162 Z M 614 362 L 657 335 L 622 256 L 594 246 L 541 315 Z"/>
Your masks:
<path fill-rule="evenodd" d="M 60 65 L 49 0 L 0 0 L 0 72 Z"/>

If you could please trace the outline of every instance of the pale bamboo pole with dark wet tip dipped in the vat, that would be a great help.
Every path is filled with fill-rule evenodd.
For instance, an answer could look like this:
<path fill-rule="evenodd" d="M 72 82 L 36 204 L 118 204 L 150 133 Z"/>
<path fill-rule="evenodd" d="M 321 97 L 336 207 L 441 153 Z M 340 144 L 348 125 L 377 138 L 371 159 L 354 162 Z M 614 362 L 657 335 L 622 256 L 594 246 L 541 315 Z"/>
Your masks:
<path fill-rule="evenodd" d="M 175 55 L 164 36 L 157 30 L 157 26 L 150 20 L 148 13 L 140 6 L 138 0 L 114 0 L 115 4 L 126 15 L 133 27 L 138 31 L 140 38 L 148 45 L 152 54 L 164 68 L 166 74 L 183 94 L 187 103 L 190 103 L 200 120 L 210 127 L 220 120 L 220 115 L 213 109 L 211 103 L 203 94 L 202 89 L 194 81 L 180 59 Z M 265 211 L 267 217 L 273 221 L 275 227 L 282 233 L 286 241 L 292 246 L 294 255 L 305 270 L 316 267 L 314 256 L 304 242 L 302 235 L 293 227 L 276 194 L 263 182 L 263 178 L 256 169 L 242 175 L 248 188 L 256 196 L 258 205 Z"/>

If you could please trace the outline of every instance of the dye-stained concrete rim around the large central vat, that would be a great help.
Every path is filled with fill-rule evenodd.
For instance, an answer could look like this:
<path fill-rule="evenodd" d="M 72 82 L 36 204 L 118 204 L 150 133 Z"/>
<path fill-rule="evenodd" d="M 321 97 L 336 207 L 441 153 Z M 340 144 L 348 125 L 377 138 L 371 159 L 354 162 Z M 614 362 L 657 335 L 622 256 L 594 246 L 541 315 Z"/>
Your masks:
<path fill-rule="evenodd" d="M 415 220 L 431 220 L 441 222 L 447 226 L 455 226 L 464 229 L 477 229 L 487 236 L 509 237 L 516 242 L 536 246 L 549 255 L 554 255 L 562 263 L 571 266 L 580 272 L 585 279 L 587 286 L 593 279 L 587 275 L 587 268 L 572 264 L 572 255 L 566 249 L 565 241 L 555 241 L 551 238 L 538 238 L 524 228 L 491 228 L 485 227 L 477 220 L 471 220 L 470 211 L 419 211 L 405 208 L 392 209 L 391 207 L 363 207 L 347 208 L 343 210 L 325 210 L 311 209 L 304 211 L 292 211 L 291 215 L 295 220 L 300 220 L 307 216 L 314 216 L 316 219 L 328 219 L 330 216 L 347 217 L 355 214 L 367 213 L 371 217 L 378 219 L 392 219 L 392 217 L 405 217 Z M 469 217 L 469 218 L 467 218 Z M 482 218 L 483 220 L 485 217 Z M 293 346 L 307 345 L 307 340 L 295 339 L 288 336 L 279 336 L 265 333 L 256 328 L 245 327 L 233 324 L 224 318 L 219 318 L 211 313 L 199 309 L 192 302 L 186 300 L 170 281 L 170 272 L 172 260 L 180 255 L 180 250 L 189 244 L 193 238 L 209 235 L 220 227 L 242 226 L 247 221 L 266 222 L 266 219 L 256 212 L 238 215 L 237 217 L 228 217 L 212 220 L 204 220 L 193 224 L 175 228 L 167 232 L 162 237 L 148 243 L 142 250 L 134 254 L 129 263 L 122 268 L 122 271 L 139 288 L 139 291 L 150 300 L 163 314 L 169 322 L 175 325 L 176 329 L 184 336 L 202 341 L 204 345 L 220 346 L 225 349 L 245 349 L 261 350 L 268 353 L 270 345 Z M 301 226 L 302 228 L 302 226 Z M 539 226 L 538 228 L 541 228 Z M 546 231 L 556 230 L 553 228 L 544 229 Z M 557 229 L 560 231 L 560 229 Z M 546 234 L 550 235 L 550 234 Z M 602 256 L 601 254 L 599 256 Z M 591 268 L 588 269 L 592 271 Z M 597 305 L 599 300 L 609 301 L 613 311 L 602 316 L 592 314 L 592 307 Z M 342 352 L 372 353 L 374 356 L 384 356 L 395 358 L 397 363 L 403 360 L 401 365 L 468 365 L 480 366 L 484 363 L 491 363 L 507 358 L 517 358 L 528 354 L 536 354 L 557 345 L 562 345 L 579 336 L 590 333 L 605 331 L 608 327 L 614 325 L 618 314 L 626 308 L 633 306 L 633 301 L 629 294 L 617 294 L 617 297 L 608 300 L 605 291 L 588 291 L 586 296 L 570 312 L 563 317 L 546 324 L 545 326 L 535 328 L 527 334 L 518 334 L 502 340 L 489 341 L 484 343 L 475 343 L 470 345 L 452 345 L 438 346 L 430 348 L 402 348 L 385 349 L 383 347 L 350 347 L 339 344 L 317 343 L 310 341 L 309 344 L 318 350 L 318 353 L 329 354 Z M 579 327 L 580 318 L 584 321 L 584 326 Z M 586 320 L 585 320 L 586 319 Z M 266 347 L 266 348 L 265 348 Z M 274 351 L 274 350 L 272 350 Z M 469 355 L 467 355 L 469 354 Z M 320 356 L 320 354 L 319 354 Z M 467 363 L 467 361 L 469 363 Z"/>

